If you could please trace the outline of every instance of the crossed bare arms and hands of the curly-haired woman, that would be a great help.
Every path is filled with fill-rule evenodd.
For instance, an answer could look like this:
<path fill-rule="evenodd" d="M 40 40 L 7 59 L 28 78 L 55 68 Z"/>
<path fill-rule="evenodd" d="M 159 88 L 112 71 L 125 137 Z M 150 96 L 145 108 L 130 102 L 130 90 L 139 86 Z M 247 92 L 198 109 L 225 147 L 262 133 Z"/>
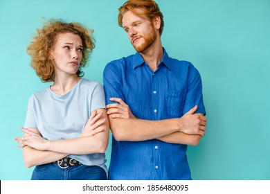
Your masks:
<path fill-rule="evenodd" d="M 21 143 L 24 163 L 28 168 L 46 164 L 67 155 L 85 155 L 105 152 L 109 139 L 109 120 L 105 109 L 97 109 L 91 113 L 89 121 L 80 137 L 50 141 L 42 138 L 37 128 L 21 128 L 24 137 L 15 141 Z"/>

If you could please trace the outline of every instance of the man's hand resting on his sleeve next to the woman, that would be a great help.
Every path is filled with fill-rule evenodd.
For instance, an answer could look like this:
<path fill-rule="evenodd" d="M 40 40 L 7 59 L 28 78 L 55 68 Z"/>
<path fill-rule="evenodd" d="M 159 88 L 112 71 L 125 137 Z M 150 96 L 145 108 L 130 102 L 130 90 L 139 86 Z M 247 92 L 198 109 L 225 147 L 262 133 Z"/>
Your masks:
<path fill-rule="evenodd" d="M 109 98 L 109 100 L 117 102 L 106 106 L 107 114 L 111 118 L 136 118 L 129 106 L 121 98 Z"/>

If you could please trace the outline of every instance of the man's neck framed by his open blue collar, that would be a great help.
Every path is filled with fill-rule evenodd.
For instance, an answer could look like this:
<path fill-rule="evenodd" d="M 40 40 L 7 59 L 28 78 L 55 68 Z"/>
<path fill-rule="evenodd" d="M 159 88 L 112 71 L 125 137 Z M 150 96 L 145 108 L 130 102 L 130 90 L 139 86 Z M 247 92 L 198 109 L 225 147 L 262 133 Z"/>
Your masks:
<path fill-rule="evenodd" d="M 152 71 L 156 71 L 159 63 L 163 58 L 163 49 L 161 45 L 161 40 L 156 39 L 156 41 L 145 51 L 141 53 L 143 60 L 149 65 Z"/>

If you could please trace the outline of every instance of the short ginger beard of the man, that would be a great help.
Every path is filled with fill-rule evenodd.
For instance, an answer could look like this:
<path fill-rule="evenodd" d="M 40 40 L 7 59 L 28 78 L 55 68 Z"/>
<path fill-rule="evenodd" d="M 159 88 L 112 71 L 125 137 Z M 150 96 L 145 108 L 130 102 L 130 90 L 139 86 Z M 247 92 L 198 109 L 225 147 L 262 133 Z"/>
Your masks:
<path fill-rule="evenodd" d="M 150 33 L 147 33 L 147 35 L 143 35 L 141 37 L 145 40 L 142 44 L 138 46 L 132 44 L 138 53 L 142 53 L 143 51 L 147 50 L 147 48 L 149 48 L 156 40 L 156 32 L 154 30 L 154 26 L 151 25 Z"/>

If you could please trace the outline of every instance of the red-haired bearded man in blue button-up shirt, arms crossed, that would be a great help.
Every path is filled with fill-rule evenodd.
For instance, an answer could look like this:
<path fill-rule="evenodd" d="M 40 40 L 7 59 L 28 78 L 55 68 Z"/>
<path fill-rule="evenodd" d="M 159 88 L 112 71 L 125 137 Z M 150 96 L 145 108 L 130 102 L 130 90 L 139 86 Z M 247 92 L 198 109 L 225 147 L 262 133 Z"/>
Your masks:
<path fill-rule="evenodd" d="M 125 2 L 118 24 L 137 53 L 104 71 L 109 179 L 191 179 L 187 145 L 197 145 L 206 130 L 199 72 L 162 47 L 163 15 L 154 1 Z"/>

